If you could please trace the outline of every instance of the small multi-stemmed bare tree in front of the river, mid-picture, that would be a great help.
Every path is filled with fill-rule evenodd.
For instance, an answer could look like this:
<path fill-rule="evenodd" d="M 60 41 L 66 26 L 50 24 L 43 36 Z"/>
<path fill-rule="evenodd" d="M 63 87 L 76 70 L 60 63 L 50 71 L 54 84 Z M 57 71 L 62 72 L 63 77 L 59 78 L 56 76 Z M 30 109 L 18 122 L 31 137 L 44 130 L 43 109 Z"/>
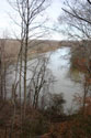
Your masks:
<path fill-rule="evenodd" d="M 31 67 L 32 78 L 29 85 L 29 95 L 34 108 L 38 108 L 41 97 L 43 98 L 44 93 L 48 94 L 49 87 L 55 81 L 48 68 L 48 61 L 49 57 L 39 55 L 35 61 L 35 65 Z"/>

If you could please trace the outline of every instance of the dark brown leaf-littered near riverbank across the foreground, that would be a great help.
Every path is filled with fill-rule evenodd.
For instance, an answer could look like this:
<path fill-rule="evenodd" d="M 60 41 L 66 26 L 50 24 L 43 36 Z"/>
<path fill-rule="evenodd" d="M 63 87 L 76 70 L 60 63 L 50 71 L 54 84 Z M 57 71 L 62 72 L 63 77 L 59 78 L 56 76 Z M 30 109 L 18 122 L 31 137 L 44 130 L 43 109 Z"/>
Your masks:
<path fill-rule="evenodd" d="M 16 103 L 13 121 L 14 108 L 11 102 L 0 102 L 0 138 L 71 138 L 72 136 L 90 138 L 91 136 L 91 115 L 87 114 L 83 117 L 78 112 L 69 116 L 48 117 L 46 112 L 44 114 L 42 110 L 27 106 L 26 117 L 23 120 L 21 107 Z"/>

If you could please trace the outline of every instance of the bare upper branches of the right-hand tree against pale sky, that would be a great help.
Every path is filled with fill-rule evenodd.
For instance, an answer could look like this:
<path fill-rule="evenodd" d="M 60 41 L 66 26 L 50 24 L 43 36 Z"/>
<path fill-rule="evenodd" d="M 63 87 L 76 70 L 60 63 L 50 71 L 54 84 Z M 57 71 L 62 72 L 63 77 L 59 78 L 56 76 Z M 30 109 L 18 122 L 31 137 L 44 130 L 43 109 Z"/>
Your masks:
<path fill-rule="evenodd" d="M 86 7 L 87 4 L 87 7 Z M 59 21 L 62 21 L 62 25 L 66 25 L 61 29 L 62 32 L 70 39 L 90 39 L 91 38 L 91 8 L 87 1 L 77 1 L 72 2 L 66 0 L 65 8 L 62 8 L 62 15 L 60 15 Z"/>

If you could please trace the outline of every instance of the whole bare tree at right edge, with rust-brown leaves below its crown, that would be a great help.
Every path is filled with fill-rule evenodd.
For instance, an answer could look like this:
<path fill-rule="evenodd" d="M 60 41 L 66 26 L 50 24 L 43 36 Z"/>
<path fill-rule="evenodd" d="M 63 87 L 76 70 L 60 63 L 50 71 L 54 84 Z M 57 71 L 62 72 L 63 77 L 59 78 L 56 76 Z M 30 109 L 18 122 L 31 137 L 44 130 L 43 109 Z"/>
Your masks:
<path fill-rule="evenodd" d="M 86 7 L 87 4 L 87 7 Z M 83 114 L 86 107 L 86 97 L 91 92 L 91 2 L 90 0 L 80 1 L 65 0 L 64 14 L 60 15 L 59 22 L 64 22 L 67 28 L 62 28 L 62 32 L 71 40 L 79 40 L 78 47 L 72 52 L 71 59 L 79 60 L 75 66 L 83 72 Z M 77 54 L 76 54 L 77 53 Z M 79 55 L 79 57 L 78 57 Z M 84 61 L 82 61 L 84 60 Z M 81 64 L 80 64 L 81 63 Z"/>

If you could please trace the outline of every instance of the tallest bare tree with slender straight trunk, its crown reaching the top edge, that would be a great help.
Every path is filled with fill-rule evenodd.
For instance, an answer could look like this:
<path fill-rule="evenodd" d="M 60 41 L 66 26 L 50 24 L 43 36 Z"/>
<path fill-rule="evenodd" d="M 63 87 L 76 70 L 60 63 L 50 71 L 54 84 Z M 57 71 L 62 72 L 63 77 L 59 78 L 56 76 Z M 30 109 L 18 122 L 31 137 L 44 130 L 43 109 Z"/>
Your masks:
<path fill-rule="evenodd" d="M 9 1 L 10 4 L 13 7 L 13 3 Z M 27 76 L 27 54 L 29 49 L 34 46 L 32 42 L 34 39 L 42 38 L 46 34 L 46 31 L 43 31 L 43 25 L 45 21 L 41 21 L 37 23 L 41 14 L 46 10 L 49 6 L 48 1 L 46 0 L 15 0 L 14 7 L 15 11 L 18 11 L 19 17 L 21 19 L 21 49 L 19 59 L 21 59 L 21 67 L 20 67 L 20 82 L 21 82 L 21 71 L 22 71 L 22 61 L 23 61 L 23 82 L 24 82 L 24 116 L 25 116 L 25 108 L 26 108 L 26 76 Z M 16 23 L 16 22 L 15 22 Z M 16 23 L 18 24 L 18 23 Z M 39 30 L 41 28 L 41 30 Z M 45 32 L 45 33 L 44 33 Z M 21 97 L 21 84 L 20 84 L 20 97 Z"/>

